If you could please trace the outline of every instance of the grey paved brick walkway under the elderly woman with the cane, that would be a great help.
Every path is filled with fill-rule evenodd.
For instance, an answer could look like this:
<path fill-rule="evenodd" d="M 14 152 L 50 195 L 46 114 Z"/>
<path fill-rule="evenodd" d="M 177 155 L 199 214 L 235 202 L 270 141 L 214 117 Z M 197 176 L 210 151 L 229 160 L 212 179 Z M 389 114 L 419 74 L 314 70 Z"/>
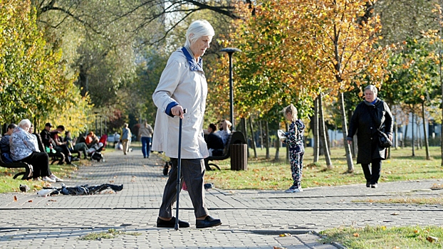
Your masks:
<path fill-rule="evenodd" d="M 155 155 L 143 159 L 140 150 L 127 156 L 108 152 L 105 159 L 80 166 L 65 184 L 124 184 L 118 194 L 46 198 L 34 193 L 0 194 L 0 248 L 335 248 L 318 243 L 316 233 L 337 226 L 443 226 L 441 205 L 352 202 L 442 196 L 443 190 L 429 189 L 442 182 L 432 180 L 381 183 L 378 189 L 363 184 L 318 187 L 293 194 L 210 189 L 206 195 L 209 212 L 223 224 L 209 229 L 195 228 L 192 203 L 182 191 L 179 218 L 191 227 L 156 228 L 166 182 L 163 162 Z M 141 235 L 79 240 L 110 228 Z M 282 233 L 292 236 L 278 236 Z"/>

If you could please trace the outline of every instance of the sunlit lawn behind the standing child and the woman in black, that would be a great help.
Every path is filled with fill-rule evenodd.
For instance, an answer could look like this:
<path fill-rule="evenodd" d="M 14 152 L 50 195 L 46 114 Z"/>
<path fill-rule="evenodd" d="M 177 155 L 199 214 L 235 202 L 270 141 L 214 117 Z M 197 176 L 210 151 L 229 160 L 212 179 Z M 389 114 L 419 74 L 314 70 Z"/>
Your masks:
<path fill-rule="evenodd" d="M 431 147 L 432 160 L 425 160 L 424 149 L 415 151 L 411 157 L 411 148 L 391 149 L 391 159 L 382 162 L 382 176 L 379 183 L 387 181 L 407 181 L 418 179 L 443 179 L 443 168 L 440 166 L 439 147 Z M 249 149 L 254 154 L 252 149 Z M 257 149 L 258 159 L 250 157 L 247 171 L 231 171 L 230 159 L 214 161 L 221 171 L 207 171 L 205 181 L 214 183 L 219 189 L 273 189 L 283 190 L 291 186 L 291 168 L 286 162 L 286 149 L 280 151 L 280 161 L 275 161 L 276 150 L 271 148 L 271 159 L 265 159 L 265 149 Z M 345 150 L 331 150 L 333 169 L 327 169 L 324 157 L 313 164 L 313 149 L 306 148 L 303 160 L 302 187 L 339 186 L 345 184 L 365 184 L 365 177 L 360 164 L 354 161 L 353 173 L 347 173 Z"/>

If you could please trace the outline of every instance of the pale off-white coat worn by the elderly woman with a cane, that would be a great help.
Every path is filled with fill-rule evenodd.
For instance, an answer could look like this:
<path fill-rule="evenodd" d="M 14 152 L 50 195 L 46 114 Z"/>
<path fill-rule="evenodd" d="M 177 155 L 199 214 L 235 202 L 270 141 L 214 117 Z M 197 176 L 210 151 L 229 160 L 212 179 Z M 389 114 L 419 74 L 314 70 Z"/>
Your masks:
<path fill-rule="evenodd" d="M 189 49 L 187 51 L 192 55 Z M 209 157 L 203 137 L 207 81 L 202 68 L 196 68 L 197 63 L 192 60 L 188 61 L 181 48 L 174 51 L 152 95 L 157 106 L 152 150 L 165 152 L 171 158 L 178 158 L 179 149 L 179 117 L 165 113 L 171 102 L 177 102 L 187 110 L 182 120 L 182 159 Z"/>

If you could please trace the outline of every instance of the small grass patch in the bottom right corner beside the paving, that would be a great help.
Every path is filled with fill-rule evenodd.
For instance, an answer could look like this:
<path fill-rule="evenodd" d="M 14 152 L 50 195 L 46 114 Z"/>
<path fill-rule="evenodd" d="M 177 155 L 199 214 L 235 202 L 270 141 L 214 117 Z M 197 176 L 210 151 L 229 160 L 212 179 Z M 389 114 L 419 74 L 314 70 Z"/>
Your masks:
<path fill-rule="evenodd" d="M 323 243 L 340 243 L 346 248 L 442 248 L 443 228 L 411 226 L 386 228 L 339 227 L 320 232 Z M 437 238 L 437 240 L 435 240 Z"/>

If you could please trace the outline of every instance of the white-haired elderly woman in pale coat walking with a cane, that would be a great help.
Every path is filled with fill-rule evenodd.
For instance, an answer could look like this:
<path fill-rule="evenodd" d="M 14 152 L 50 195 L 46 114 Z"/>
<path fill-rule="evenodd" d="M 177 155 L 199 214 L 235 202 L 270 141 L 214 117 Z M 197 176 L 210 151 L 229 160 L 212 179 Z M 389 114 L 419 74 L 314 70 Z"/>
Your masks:
<path fill-rule="evenodd" d="M 194 21 L 186 33 L 183 48 L 174 51 L 167 61 L 160 82 L 152 95 L 157 106 L 152 150 L 165 152 L 171 158 L 172 168 L 163 192 L 157 227 L 174 228 L 172 205 L 177 196 L 177 140 L 179 119 L 182 126 L 182 176 L 194 206 L 197 228 L 219 226 L 222 221 L 209 216 L 204 203 L 204 158 L 208 157 L 203 137 L 203 117 L 206 107 L 207 82 L 202 68 L 202 55 L 209 48 L 214 28 L 205 20 Z M 183 110 L 187 113 L 184 115 Z M 183 183 L 183 181 L 182 181 Z M 181 189 L 181 188 L 180 188 Z M 189 227 L 178 221 L 180 228 Z"/>

